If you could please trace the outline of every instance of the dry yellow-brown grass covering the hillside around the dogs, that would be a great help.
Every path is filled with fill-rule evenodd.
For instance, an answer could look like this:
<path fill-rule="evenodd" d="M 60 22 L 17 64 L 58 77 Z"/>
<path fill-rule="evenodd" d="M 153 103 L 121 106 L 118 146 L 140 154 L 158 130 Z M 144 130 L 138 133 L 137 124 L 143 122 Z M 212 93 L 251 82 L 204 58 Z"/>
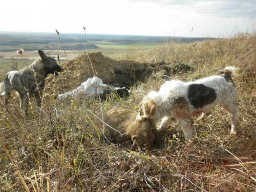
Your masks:
<path fill-rule="evenodd" d="M 228 135 L 227 114 L 217 106 L 205 122 L 194 124 L 196 144 L 191 148 L 185 147 L 176 121 L 158 136 L 151 153 L 95 139 L 89 129 L 93 113 L 113 106 L 138 110 L 148 91 L 157 90 L 166 80 L 161 71 L 136 83 L 129 99 L 76 98 L 58 103 L 50 97 L 43 100 L 42 113 L 34 109 L 27 120 L 22 118 L 17 99 L 8 106 L 8 114 L 1 101 L 0 190 L 255 191 L 256 36 L 238 34 L 194 45 L 172 42 L 159 49 L 111 57 L 137 62 L 182 60 L 195 70 L 171 78 L 184 81 L 236 66 L 240 69 L 233 78 L 239 91 L 237 135 Z"/>

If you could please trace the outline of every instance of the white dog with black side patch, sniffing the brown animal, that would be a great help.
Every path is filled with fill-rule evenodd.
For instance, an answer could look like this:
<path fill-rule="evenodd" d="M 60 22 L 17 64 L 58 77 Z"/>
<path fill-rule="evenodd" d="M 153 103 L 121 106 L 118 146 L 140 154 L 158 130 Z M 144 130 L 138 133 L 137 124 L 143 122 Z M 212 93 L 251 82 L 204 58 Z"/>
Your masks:
<path fill-rule="evenodd" d="M 180 120 L 185 140 L 193 138 L 191 116 L 208 112 L 223 104 L 231 119 L 230 133 L 237 132 L 238 93 L 231 79 L 236 68 L 226 67 L 221 76 L 210 76 L 192 82 L 166 81 L 158 92 L 152 91 L 140 105 L 137 121 L 143 118 L 162 119 L 159 130 L 165 129 L 172 118 Z"/>

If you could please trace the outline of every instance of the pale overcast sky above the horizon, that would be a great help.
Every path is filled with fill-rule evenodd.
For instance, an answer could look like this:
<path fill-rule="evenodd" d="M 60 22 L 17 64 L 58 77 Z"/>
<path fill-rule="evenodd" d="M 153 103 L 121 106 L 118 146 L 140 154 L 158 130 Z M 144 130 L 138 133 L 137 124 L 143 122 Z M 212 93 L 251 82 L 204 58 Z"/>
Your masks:
<path fill-rule="evenodd" d="M 256 29 L 255 0 L 2 0 L 0 31 L 229 37 Z"/>

